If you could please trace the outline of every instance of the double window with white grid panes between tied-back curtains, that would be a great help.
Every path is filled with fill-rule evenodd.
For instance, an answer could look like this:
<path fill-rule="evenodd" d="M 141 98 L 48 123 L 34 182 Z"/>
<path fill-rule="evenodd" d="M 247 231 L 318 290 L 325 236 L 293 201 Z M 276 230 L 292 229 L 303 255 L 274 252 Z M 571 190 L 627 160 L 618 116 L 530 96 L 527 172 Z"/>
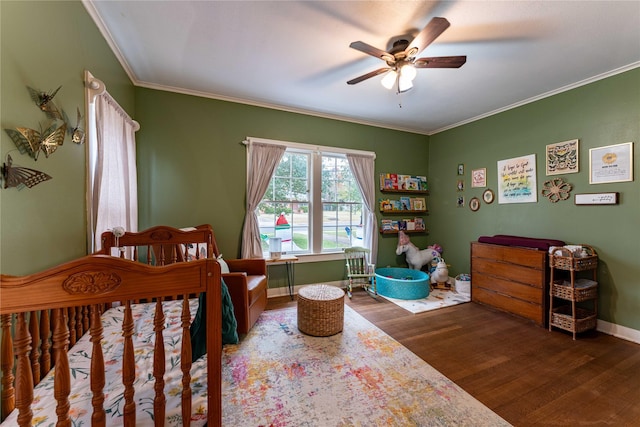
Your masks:
<path fill-rule="evenodd" d="M 293 254 L 363 245 L 363 200 L 346 155 L 314 148 L 287 147 L 269 182 L 257 211 L 263 252 L 270 237 Z"/>

